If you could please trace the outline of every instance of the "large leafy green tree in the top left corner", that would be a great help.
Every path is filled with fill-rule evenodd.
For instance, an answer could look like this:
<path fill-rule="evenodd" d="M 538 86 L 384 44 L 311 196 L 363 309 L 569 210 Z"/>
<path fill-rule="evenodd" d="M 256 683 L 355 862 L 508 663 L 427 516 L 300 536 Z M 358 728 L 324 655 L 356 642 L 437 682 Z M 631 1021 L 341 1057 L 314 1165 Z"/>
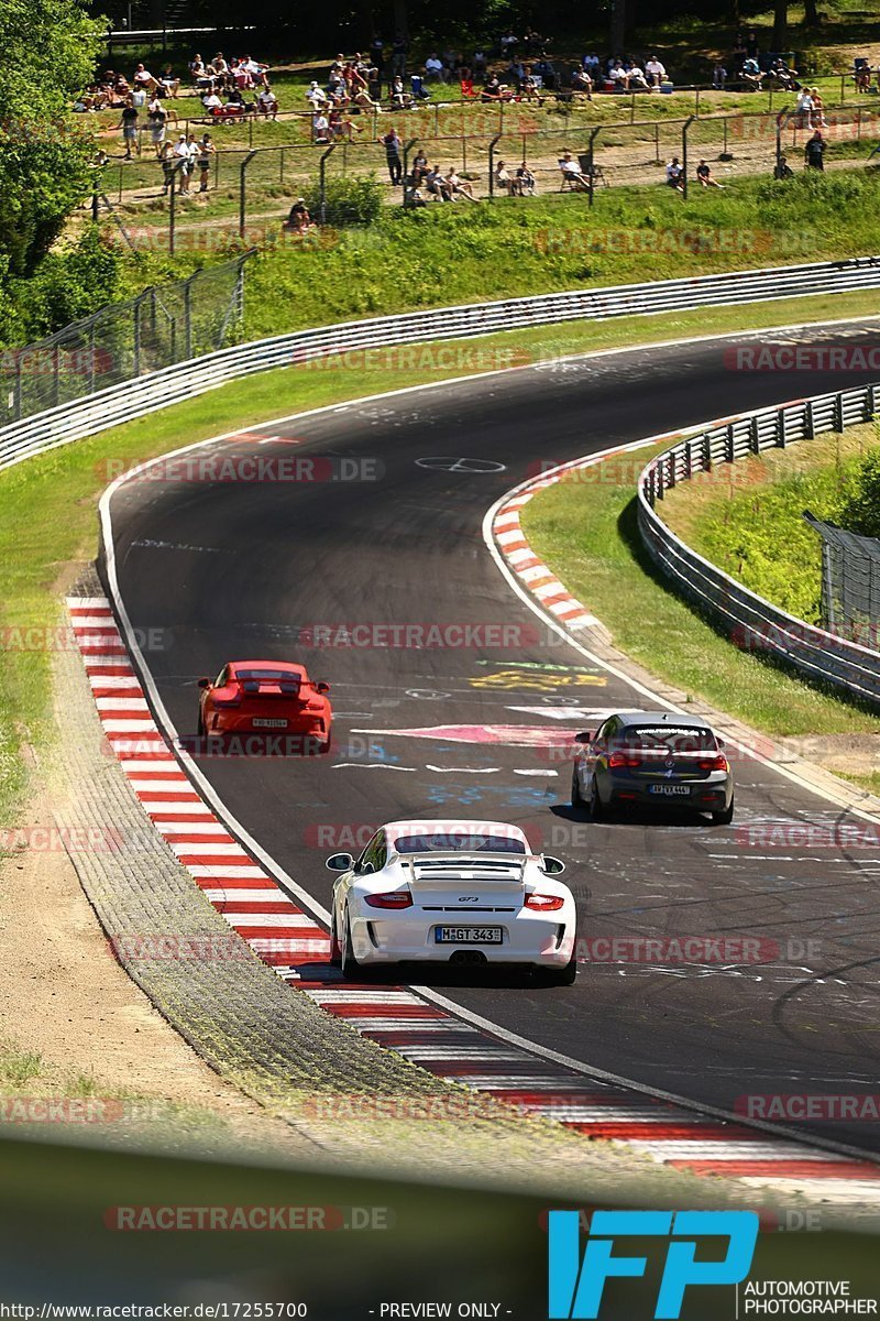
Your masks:
<path fill-rule="evenodd" d="M 94 141 L 71 103 L 94 77 L 106 30 L 77 0 L 0 4 L 0 266 L 9 275 L 30 275 L 90 189 Z"/>

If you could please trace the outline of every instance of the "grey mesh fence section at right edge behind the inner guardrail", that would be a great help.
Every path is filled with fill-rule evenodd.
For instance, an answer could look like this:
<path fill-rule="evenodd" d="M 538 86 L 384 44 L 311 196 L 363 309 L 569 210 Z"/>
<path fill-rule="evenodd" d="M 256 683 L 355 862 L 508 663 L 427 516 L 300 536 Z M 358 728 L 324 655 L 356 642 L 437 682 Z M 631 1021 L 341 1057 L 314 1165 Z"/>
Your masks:
<path fill-rule="evenodd" d="M 880 540 L 846 532 L 806 513 L 822 538 L 822 627 L 876 650 L 880 629 Z"/>

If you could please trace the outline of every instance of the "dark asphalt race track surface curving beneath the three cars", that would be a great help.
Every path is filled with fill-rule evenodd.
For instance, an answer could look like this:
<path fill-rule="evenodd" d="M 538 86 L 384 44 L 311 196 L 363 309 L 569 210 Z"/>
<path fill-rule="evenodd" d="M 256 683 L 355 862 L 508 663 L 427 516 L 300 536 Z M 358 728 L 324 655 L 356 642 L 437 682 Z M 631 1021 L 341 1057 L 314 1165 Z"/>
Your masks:
<path fill-rule="evenodd" d="M 875 333 L 854 325 L 773 341 L 858 343 Z M 181 734 L 195 733 L 197 679 L 227 659 L 303 659 L 331 683 L 330 756 L 201 761 L 230 811 L 325 906 L 327 853 L 351 851 L 384 820 L 463 815 L 516 822 L 565 859 L 582 938 L 776 942 L 777 956 L 760 966 L 583 963 L 570 988 L 472 972 L 416 978 L 584 1063 L 734 1110 L 747 1092 L 877 1090 L 880 847 L 789 840 L 789 827 L 831 828 L 840 814 L 749 758 L 735 765 L 731 827 L 575 820 L 567 765 L 496 727 L 561 740 L 645 699 L 550 638 L 482 536 L 487 509 L 544 461 L 864 383 L 731 371 L 727 345 L 545 365 L 261 428 L 286 440 L 234 439 L 218 453 L 319 456 L 313 476 L 336 480 L 162 474 L 121 486 L 112 514 L 121 596 L 136 629 L 162 630 L 146 659 Z M 515 629 L 500 646 L 414 647 L 393 645 L 387 627 L 435 622 Z M 363 625 L 376 626 L 367 631 L 376 645 L 313 645 L 327 635 L 315 629 L 339 642 Z M 782 830 L 761 845 L 749 828 L 769 826 Z M 876 1124 L 802 1128 L 880 1151 Z"/>

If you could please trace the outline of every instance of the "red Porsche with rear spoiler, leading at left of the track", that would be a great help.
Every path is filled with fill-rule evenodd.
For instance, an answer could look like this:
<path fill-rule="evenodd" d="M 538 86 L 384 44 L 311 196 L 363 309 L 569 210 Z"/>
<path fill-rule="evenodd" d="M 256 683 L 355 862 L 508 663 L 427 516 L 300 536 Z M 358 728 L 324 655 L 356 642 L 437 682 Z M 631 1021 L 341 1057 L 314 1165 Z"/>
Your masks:
<path fill-rule="evenodd" d="M 214 682 L 199 679 L 199 736 L 282 733 L 330 749 L 330 684 L 286 660 L 230 660 Z"/>

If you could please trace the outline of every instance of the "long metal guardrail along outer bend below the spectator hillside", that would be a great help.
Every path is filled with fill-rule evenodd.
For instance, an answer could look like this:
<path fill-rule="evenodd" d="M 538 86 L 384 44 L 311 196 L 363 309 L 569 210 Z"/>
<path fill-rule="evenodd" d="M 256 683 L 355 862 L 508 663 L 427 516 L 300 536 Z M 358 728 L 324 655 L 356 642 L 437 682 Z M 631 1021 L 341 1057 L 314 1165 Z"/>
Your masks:
<path fill-rule="evenodd" d="M 272 367 L 302 365 L 315 358 L 430 339 L 470 338 L 582 318 L 650 316 L 871 288 L 880 288 L 880 256 L 574 289 L 567 293 L 406 312 L 292 332 L 220 349 L 3 427 L 0 469 L 107 427 L 191 399 L 230 380 Z"/>

